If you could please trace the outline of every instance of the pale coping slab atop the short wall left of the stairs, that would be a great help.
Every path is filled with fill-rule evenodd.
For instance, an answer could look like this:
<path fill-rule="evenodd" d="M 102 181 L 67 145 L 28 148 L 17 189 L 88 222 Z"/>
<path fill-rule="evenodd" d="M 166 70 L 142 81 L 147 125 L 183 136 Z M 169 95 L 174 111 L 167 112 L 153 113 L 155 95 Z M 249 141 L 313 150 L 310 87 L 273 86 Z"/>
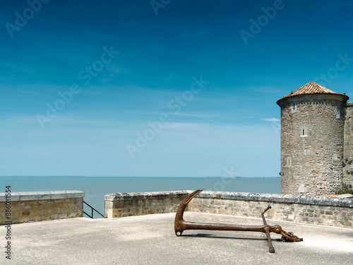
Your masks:
<path fill-rule="evenodd" d="M 11 201 L 37 201 L 47 199 L 83 198 L 85 192 L 56 191 L 56 192 L 11 192 Z M 0 193 L 0 201 L 6 201 L 6 193 Z"/>

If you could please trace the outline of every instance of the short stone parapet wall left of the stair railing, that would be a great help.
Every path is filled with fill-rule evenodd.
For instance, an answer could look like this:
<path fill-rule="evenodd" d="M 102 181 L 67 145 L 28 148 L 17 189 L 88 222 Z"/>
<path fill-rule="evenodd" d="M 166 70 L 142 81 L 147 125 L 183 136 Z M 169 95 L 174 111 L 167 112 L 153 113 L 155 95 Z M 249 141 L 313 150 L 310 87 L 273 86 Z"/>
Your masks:
<path fill-rule="evenodd" d="M 0 225 L 82 217 L 84 196 L 80 191 L 0 193 Z"/>

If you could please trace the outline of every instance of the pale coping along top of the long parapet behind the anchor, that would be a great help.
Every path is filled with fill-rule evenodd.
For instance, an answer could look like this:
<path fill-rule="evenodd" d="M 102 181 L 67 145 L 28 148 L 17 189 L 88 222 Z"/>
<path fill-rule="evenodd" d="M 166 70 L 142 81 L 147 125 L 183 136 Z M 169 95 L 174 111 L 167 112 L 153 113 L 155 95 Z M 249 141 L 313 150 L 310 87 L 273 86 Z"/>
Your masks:
<path fill-rule="evenodd" d="M 174 192 L 128 192 L 114 193 L 104 196 L 105 201 L 121 201 L 131 199 L 162 199 L 190 194 L 191 190 Z M 321 206 L 339 206 L 353 208 L 353 198 L 338 198 L 329 196 L 309 196 L 298 194 L 261 194 L 248 192 L 209 192 L 203 191 L 196 197 L 205 199 L 227 199 L 238 201 L 268 201 L 285 204 L 309 204 Z"/>

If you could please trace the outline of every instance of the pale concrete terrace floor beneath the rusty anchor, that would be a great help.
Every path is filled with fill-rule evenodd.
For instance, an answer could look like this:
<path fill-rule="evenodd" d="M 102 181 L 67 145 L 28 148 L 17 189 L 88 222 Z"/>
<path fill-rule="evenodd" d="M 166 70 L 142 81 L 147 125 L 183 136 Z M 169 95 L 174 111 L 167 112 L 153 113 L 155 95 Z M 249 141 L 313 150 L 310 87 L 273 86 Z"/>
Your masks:
<path fill-rule="evenodd" d="M 11 226 L 11 261 L 0 264 L 353 264 L 353 230 L 268 220 L 303 237 L 275 254 L 260 232 L 186 230 L 174 234 L 175 213 L 114 219 L 73 218 Z M 262 220 L 186 212 L 185 220 L 261 225 Z M 0 227 L 1 248 L 6 228 Z"/>

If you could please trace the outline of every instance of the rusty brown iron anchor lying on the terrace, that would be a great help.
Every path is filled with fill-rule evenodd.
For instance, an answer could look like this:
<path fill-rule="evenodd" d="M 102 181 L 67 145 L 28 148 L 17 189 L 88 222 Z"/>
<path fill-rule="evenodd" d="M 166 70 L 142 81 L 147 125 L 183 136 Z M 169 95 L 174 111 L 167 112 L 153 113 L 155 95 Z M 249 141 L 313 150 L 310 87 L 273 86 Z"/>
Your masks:
<path fill-rule="evenodd" d="M 229 231 L 251 231 L 251 232 L 264 232 L 266 234 L 268 245 L 270 247 L 270 253 L 275 253 L 275 249 L 272 245 L 272 240 L 270 237 L 270 232 L 275 232 L 282 235 L 282 241 L 286 242 L 299 242 L 303 241 L 302 238 L 297 237 L 292 232 L 285 232 L 282 230 L 280 225 L 268 225 L 265 220 L 264 213 L 271 208 L 268 206 L 261 213 L 263 218 L 263 225 L 232 225 L 232 224 L 223 224 L 223 223 L 196 223 L 196 222 L 187 222 L 183 219 L 184 211 L 186 206 L 189 204 L 191 199 L 194 196 L 202 192 L 203 189 L 197 189 L 195 192 L 192 192 L 187 196 L 184 201 L 181 202 L 174 221 L 174 230 L 175 235 L 178 237 L 184 232 L 184 230 L 229 230 Z"/>

